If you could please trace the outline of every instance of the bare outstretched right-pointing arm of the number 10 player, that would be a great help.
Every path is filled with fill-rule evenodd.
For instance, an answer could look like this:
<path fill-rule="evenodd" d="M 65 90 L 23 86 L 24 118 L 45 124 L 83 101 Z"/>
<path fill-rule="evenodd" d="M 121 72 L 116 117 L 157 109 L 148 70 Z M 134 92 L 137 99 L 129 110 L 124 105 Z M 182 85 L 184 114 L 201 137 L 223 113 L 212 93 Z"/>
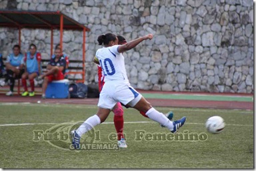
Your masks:
<path fill-rule="evenodd" d="M 149 40 L 153 39 L 153 35 L 149 34 L 149 35 L 145 35 L 143 37 L 139 37 L 138 39 L 135 39 L 133 41 L 129 41 L 125 45 L 119 46 L 117 51 L 119 53 L 123 53 L 125 51 L 129 51 L 130 49 L 133 49 L 133 47 L 136 47 L 139 43 L 141 43 L 142 41 L 145 41 L 147 39 L 149 39 Z"/>

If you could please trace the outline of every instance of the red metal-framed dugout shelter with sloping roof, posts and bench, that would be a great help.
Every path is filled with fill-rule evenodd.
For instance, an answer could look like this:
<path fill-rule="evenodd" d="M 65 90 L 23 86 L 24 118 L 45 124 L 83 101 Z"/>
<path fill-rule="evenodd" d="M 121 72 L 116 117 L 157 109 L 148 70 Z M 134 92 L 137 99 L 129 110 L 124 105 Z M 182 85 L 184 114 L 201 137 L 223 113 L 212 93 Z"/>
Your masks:
<path fill-rule="evenodd" d="M 19 31 L 19 46 L 21 46 L 21 29 L 47 29 L 51 30 L 51 52 L 53 55 L 53 31 L 59 30 L 59 43 L 61 49 L 63 47 L 63 31 L 73 30 L 83 32 L 83 59 L 69 60 L 70 63 L 83 63 L 83 67 L 69 67 L 69 75 L 82 75 L 81 80 L 76 80 L 77 83 L 85 82 L 85 34 L 90 31 L 81 23 L 75 21 L 71 17 L 61 13 L 61 11 L 20 11 L 20 10 L 0 10 L 0 27 L 15 28 Z M 51 57 L 50 56 L 50 57 Z M 45 62 L 47 60 L 42 60 Z M 43 66 L 45 67 L 45 66 Z M 18 94 L 19 94 L 18 83 Z"/>

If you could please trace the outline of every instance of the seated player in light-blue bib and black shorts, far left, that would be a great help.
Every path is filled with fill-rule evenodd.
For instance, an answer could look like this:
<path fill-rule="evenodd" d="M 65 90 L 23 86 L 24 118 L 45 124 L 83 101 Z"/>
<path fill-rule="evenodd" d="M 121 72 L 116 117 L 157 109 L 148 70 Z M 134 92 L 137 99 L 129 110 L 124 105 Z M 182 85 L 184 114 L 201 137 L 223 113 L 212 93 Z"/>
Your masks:
<path fill-rule="evenodd" d="M 21 47 L 19 47 L 19 45 L 13 46 L 13 53 L 8 55 L 5 68 L 7 77 L 5 81 L 1 82 L 1 86 L 4 86 L 10 81 L 10 91 L 7 92 L 6 95 L 12 96 L 15 79 L 21 79 L 21 75 L 24 73 L 24 56 L 21 53 Z"/>

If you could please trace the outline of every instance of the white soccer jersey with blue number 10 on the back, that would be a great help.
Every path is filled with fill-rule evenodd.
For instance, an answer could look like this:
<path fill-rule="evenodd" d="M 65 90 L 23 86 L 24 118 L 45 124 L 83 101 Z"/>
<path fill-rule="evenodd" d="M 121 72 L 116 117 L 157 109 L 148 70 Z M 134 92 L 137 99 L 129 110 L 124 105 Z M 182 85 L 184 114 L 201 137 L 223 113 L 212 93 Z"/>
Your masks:
<path fill-rule="evenodd" d="M 119 47 L 119 45 L 103 47 L 96 52 L 95 56 L 99 60 L 103 70 L 105 82 L 115 80 L 129 82 L 125 70 L 125 59 L 123 55 L 117 51 L 117 47 Z"/>

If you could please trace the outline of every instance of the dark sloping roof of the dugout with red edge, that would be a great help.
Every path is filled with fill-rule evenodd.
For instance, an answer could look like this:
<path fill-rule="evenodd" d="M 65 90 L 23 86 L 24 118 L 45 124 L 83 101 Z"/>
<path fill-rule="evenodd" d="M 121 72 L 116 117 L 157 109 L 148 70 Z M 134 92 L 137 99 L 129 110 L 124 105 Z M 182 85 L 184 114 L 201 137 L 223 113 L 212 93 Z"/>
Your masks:
<path fill-rule="evenodd" d="M 60 29 L 60 16 L 63 15 L 63 29 L 90 31 L 81 23 L 60 11 L 19 11 L 0 10 L 0 27 L 20 27 L 31 29 Z"/>

